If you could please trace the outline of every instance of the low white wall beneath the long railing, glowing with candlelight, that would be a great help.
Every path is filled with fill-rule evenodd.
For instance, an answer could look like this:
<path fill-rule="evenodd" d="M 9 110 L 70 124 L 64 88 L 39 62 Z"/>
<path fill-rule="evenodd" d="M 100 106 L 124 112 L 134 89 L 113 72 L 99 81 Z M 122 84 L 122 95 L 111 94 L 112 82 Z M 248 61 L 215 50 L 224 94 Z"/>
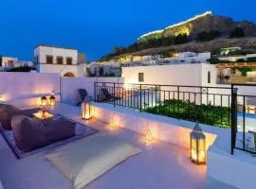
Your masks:
<path fill-rule="evenodd" d="M 190 148 L 190 132 L 194 126 L 192 122 L 137 112 L 128 108 L 114 108 L 107 104 L 94 104 L 94 116 L 108 123 L 113 117 L 114 122 L 119 127 L 131 129 L 141 134 L 146 134 L 147 130 L 151 129 L 155 139 Z M 207 148 L 213 144 L 216 135 L 225 135 L 225 140 L 229 140 L 229 136 L 227 137 L 228 129 L 216 129 L 206 125 L 200 126 L 206 134 Z M 220 146 L 226 146 L 226 149 L 229 150 L 229 142 L 217 141 L 217 143 Z"/>

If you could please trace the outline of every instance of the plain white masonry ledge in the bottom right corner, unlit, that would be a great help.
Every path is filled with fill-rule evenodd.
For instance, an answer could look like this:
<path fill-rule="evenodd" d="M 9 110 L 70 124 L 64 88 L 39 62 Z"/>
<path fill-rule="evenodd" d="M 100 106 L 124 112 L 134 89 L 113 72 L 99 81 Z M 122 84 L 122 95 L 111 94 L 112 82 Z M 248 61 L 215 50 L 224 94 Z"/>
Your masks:
<path fill-rule="evenodd" d="M 207 175 L 237 188 L 255 189 L 255 158 L 246 153 L 237 157 L 239 153 L 244 152 L 235 151 L 235 155 L 231 156 L 219 147 L 210 146 Z"/>

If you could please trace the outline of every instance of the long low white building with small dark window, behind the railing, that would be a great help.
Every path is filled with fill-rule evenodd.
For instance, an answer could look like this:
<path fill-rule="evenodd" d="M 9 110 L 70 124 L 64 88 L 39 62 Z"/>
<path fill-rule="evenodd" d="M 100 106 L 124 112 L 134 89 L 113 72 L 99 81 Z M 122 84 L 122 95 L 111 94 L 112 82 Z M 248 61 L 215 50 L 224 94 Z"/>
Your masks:
<path fill-rule="evenodd" d="M 123 67 L 125 83 L 207 86 L 217 82 L 217 69 L 208 63 Z"/>

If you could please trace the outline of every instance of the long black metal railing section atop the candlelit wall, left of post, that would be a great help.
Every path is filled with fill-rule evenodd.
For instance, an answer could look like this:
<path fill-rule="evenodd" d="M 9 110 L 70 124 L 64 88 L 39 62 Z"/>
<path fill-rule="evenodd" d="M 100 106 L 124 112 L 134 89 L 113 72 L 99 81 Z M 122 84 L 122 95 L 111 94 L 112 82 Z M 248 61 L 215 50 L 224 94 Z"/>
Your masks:
<path fill-rule="evenodd" d="M 229 87 L 96 82 L 95 99 L 139 112 L 231 127 Z"/>

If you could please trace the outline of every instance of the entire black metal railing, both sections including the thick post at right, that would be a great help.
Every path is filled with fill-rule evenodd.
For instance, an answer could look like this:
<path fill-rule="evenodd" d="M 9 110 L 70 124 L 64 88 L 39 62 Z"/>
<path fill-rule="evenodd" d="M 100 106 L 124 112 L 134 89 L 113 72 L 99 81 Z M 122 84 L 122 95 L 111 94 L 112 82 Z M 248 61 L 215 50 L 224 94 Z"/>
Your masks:
<path fill-rule="evenodd" d="M 243 87 L 249 87 L 245 90 Z M 256 152 L 256 85 L 231 87 L 95 83 L 95 101 L 230 129 L 234 148 Z"/>

